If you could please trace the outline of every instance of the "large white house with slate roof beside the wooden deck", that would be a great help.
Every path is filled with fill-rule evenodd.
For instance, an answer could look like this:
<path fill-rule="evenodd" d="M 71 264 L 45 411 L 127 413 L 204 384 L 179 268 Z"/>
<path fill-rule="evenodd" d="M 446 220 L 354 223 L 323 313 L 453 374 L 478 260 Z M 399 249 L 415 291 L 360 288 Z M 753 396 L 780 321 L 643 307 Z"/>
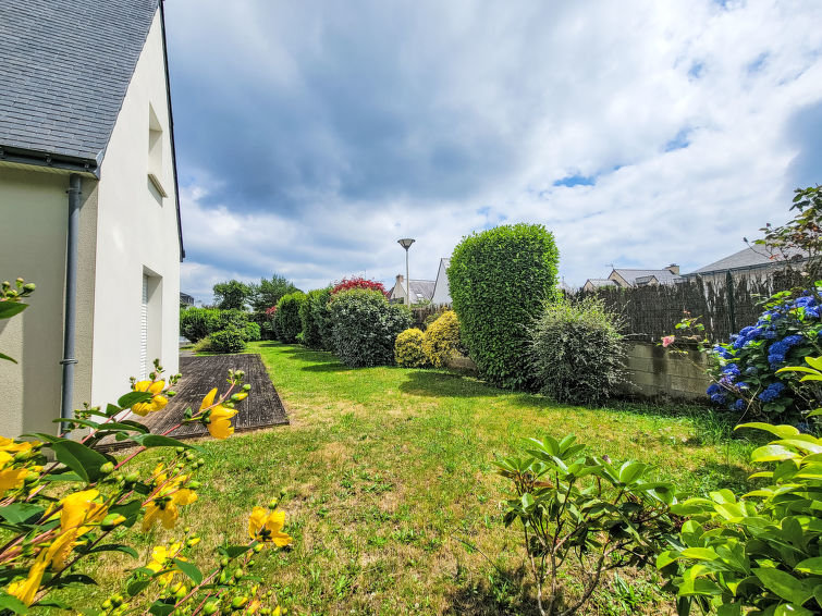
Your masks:
<path fill-rule="evenodd" d="M 54 433 L 159 358 L 177 371 L 180 226 L 159 0 L 0 2 L 0 434 Z M 64 353 L 65 349 L 65 353 Z M 61 385 L 62 383 L 62 385 Z"/>

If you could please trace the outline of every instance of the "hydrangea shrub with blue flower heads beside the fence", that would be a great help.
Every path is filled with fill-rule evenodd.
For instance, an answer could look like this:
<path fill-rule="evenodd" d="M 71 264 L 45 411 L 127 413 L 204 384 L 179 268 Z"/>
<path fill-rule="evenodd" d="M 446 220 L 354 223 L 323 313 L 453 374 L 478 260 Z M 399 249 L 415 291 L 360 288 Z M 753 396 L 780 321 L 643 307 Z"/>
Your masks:
<path fill-rule="evenodd" d="M 793 297 L 777 293 L 754 325 L 743 328 L 728 344 L 709 352 L 708 395 L 717 405 L 753 416 L 796 415 L 811 395 L 790 373 L 776 371 L 798 366 L 819 354 L 822 334 L 822 285 Z"/>

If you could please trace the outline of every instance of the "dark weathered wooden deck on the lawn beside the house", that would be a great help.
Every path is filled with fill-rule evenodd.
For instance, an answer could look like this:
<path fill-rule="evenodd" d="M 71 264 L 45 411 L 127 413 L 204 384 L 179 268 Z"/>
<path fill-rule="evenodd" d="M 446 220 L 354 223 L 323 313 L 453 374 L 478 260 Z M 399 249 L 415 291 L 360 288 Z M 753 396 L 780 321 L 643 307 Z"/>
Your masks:
<path fill-rule="evenodd" d="M 130 416 L 148 427 L 152 433 L 161 434 L 169 428 L 180 423 L 185 409 L 191 407 L 195 412 L 200 407 L 203 398 L 213 387 L 218 393 L 225 391 L 229 384 L 229 369 L 244 370 L 244 383 L 251 385 L 248 397 L 237 403 L 237 414 L 232 423 L 235 432 L 257 430 L 270 426 L 289 423 L 280 396 L 271 383 L 271 378 L 266 370 L 259 355 L 211 355 L 211 356 L 181 356 L 180 373 L 183 378 L 177 383 L 176 396 L 159 412 L 152 412 L 146 417 Z M 193 439 L 205 436 L 208 430 L 200 423 L 181 426 L 169 435 L 174 439 Z M 102 448 L 116 447 L 118 444 L 109 439 L 100 443 Z"/>

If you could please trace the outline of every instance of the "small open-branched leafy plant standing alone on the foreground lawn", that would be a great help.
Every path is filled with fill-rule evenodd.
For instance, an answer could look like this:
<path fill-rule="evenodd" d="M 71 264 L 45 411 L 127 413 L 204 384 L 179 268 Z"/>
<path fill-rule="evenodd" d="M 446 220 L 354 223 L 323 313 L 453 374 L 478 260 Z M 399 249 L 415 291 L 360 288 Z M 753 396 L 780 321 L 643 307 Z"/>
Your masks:
<path fill-rule="evenodd" d="M 673 532 L 668 507 L 675 492 L 670 483 L 649 481 L 647 465 L 588 454 L 574 435 L 529 439 L 526 447 L 523 457 L 495 463 L 514 488 L 504 522 L 523 525 L 539 613 L 566 616 L 586 604 L 603 571 L 655 557 Z M 580 571 L 581 596 L 560 608 L 559 580 L 572 562 Z"/>

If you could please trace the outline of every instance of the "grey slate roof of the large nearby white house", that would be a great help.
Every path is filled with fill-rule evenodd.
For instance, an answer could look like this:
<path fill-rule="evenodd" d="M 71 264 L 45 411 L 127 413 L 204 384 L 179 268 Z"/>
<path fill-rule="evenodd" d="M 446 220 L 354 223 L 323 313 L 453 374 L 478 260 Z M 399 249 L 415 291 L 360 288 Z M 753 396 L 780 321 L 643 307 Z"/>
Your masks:
<path fill-rule="evenodd" d="M 99 164 L 158 3 L 0 2 L 0 148 Z"/>

